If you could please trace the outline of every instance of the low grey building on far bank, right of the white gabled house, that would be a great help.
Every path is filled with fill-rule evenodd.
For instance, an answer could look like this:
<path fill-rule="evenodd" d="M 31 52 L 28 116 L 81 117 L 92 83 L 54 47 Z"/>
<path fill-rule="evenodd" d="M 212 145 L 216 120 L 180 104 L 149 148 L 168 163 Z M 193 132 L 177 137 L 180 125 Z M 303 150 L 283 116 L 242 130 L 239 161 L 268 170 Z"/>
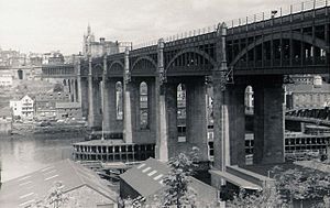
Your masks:
<path fill-rule="evenodd" d="M 55 109 L 57 119 L 74 118 L 80 120 L 82 118 L 79 102 L 56 102 Z"/>

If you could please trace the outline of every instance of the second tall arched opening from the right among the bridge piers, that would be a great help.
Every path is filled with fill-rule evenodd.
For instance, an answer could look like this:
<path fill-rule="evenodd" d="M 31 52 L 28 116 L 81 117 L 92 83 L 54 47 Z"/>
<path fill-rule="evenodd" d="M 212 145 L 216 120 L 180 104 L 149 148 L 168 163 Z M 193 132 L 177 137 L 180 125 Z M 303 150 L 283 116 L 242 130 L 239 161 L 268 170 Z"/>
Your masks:
<path fill-rule="evenodd" d="M 176 92 L 176 101 L 177 101 L 177 141 L 186 142 L 186 86 L 184 84 L 179 84 L 177 86 Z"/>

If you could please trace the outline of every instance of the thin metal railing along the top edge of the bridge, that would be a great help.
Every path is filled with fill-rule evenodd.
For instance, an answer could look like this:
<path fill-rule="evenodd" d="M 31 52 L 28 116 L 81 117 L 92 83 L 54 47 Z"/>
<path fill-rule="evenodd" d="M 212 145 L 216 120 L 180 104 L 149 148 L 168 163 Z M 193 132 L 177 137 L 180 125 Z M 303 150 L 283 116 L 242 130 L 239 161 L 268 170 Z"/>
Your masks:
<path fill-rule="evenodd" d="M 253 24 L 256 22 L 267 21 L 274 19 L 278 20 L 278 18 L 296 14 L 305 11 L 310 11 L 315 9 L 326 8 L 330 6 L 330 0 L 307 0 L 300 3 L 294 3 L 286 7 L 275 8 L 268 12 L 255 13 L 252 15 L 248 15 L 245 18 L 239 18 L 231 21 L 226 21 L 228 29 L 239 28 L 239 26 L 248 26 L 249 24 Z M 210 26 L 206 26 L 202 29 L 190 30 L 182 33 L 177 33 L 175 35 L 170 35 L 164 39 L 165 43 L 174 42 L 183 39 L 188 39 L 191 36 L 204 35 L 207 33 L 212 33 L 217 31 L 218 25 L 213 24 Z M 148 47 L 153 45 L 157 45 L 158 40 L 147 41 L 141 44 L 133 45 L 133 50 Z"/>

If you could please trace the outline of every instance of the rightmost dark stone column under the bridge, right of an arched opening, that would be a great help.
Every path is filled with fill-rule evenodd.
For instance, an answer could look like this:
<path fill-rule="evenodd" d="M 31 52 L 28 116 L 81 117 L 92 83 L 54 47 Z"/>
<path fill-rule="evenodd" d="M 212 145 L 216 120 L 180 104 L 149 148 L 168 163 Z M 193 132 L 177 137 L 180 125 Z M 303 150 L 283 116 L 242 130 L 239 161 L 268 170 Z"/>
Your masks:
<path fill-rule="evenodd" d="M 282 76 L 261 77 L 254 86 L 254 164 L 284 162 Z"/>

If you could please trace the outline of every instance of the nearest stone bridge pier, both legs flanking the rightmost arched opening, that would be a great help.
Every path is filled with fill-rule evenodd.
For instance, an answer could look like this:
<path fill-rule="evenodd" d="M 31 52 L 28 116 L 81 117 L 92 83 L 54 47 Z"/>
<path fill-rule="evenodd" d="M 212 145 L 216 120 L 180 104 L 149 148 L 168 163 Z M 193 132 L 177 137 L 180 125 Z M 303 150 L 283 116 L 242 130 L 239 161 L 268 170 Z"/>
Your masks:
<path fill-rule="evenodd" d="M 244 92 L 248 86 L 254 91 L 253 164 L 283 163 L 283 76 L 238 76 L 235 83 L 226 88 L 217 83 L 217 75 L 213 78 L 215 168 L 226 172 L 230 165 L 245 165 Z M 221 173 L 211 173 L 212 184 L 220 187 Z"/>

